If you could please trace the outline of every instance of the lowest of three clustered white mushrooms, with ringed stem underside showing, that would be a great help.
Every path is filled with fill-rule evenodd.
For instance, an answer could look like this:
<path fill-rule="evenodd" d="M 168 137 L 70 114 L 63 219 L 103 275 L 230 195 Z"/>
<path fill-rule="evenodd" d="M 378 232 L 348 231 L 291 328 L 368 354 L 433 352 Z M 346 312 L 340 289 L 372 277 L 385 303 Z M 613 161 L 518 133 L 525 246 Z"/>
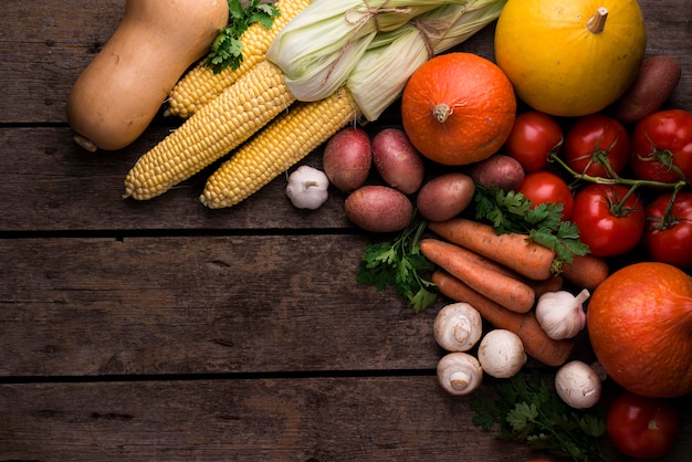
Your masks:
<path fill-rule="evenodd" d="M 483 369 L 468 353 L 449 353 L 438 363 L 438 381 L 450 395 L 469 395 L 481 386 Z"/>

